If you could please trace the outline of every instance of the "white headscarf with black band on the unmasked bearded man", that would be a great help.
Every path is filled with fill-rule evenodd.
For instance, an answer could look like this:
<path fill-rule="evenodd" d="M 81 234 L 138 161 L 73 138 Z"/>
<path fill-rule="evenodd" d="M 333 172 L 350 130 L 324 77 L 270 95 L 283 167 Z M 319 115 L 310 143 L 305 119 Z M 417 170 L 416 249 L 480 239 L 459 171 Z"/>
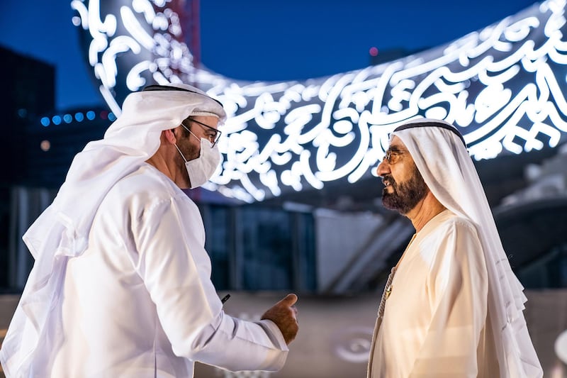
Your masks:
<path fill-rule="evenodd" d="M 435 198 L 478 230 L 488 269 L 488 314 L 500 378 L 542 377 L 522 313 L 527 300 L 524 288 L 507 260 L 463 137 L 450 123 L 427 118 L 399 126 L 393 135 L 406 145 Z"/>

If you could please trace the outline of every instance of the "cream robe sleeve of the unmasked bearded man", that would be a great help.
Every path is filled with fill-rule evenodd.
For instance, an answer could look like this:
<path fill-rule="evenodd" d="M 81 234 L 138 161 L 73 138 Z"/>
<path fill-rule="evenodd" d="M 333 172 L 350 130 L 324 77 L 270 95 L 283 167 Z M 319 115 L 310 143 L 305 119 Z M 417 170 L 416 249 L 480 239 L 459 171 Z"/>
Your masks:
<path fill-rule="evenodd" d="M 447 225 L 426 287 L 432 320 L 410 377 L 477 377 L 488 284 L 481 242 L 470 223 Z"/>

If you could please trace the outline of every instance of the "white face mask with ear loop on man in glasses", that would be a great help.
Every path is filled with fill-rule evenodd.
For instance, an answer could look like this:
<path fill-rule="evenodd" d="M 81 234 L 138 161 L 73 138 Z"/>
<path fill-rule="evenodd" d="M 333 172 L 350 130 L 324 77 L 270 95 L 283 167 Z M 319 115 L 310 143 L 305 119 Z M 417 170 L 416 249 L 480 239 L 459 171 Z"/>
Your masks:
<path fill-rule="evenodd" d="M 191 133 L 195 136 L 195 134 Z M 195 136 L 195 138 L 197 138 Z M 179 151 L 183 160 L 185 160 L 185 167 L 187 173 L 189 174 L 189 181 L 191 182 L 191 189 L 196 187 L 201 187 L 201 185 L 208 182 L 210 177 L 213 177 L 215 170 L 220 163 L 220 152 L 218 151 L 218 145 L 211 147 L 212 143 L 206 138 L 201 138 L 201 152 L 199 157 L 196 159 L 186 160 L 184 155 L 179 150 L 179 147 L 175 145 L 175 148 Z"/>

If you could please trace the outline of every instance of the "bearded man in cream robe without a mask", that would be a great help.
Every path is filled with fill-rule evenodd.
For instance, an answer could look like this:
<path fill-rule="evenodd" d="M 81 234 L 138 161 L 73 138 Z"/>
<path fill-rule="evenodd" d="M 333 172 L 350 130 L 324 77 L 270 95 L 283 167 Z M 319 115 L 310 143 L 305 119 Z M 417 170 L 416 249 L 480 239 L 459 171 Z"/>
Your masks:
<path fill-rule="evenodd" d="M 542 377 L 522 285 L 459 131 L 399 126 L 377 173 L 383 205 L 415 235 L 378 306 L 368 377 Z"/>

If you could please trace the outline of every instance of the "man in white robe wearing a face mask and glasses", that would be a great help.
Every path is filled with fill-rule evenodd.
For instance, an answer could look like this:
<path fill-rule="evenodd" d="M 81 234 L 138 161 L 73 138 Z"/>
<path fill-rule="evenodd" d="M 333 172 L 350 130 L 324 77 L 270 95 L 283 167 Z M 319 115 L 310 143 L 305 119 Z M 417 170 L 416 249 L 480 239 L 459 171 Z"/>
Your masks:
<path fill-rule="evenodd" d="M 181 191 L 215 172 L 224 119 L 199 89 L 150 86 L 77 154 L 23 236 L 35 264 L 0 350 L 6 377 L 193 377 L 194 361 L 283 366 L 296 295 L 261 321 L 225 314 L 201 216 Z"/>

